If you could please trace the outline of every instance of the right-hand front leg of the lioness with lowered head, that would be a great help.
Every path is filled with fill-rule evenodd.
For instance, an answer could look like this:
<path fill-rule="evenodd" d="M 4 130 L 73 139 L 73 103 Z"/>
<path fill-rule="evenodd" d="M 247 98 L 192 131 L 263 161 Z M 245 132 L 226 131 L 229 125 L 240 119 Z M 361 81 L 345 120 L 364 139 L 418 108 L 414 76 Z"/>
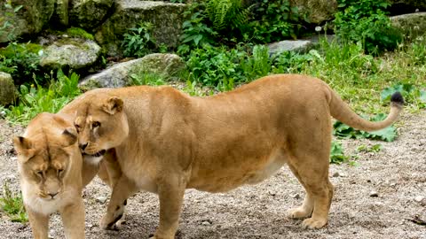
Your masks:
<path fill-rule="evenodd" d="M 65 237 L 67 239 L 84 238 L 84 203 L 80 198 L 75 204 L 67 205 L 60 210 L 60 217 L 64 223 Z"/>

